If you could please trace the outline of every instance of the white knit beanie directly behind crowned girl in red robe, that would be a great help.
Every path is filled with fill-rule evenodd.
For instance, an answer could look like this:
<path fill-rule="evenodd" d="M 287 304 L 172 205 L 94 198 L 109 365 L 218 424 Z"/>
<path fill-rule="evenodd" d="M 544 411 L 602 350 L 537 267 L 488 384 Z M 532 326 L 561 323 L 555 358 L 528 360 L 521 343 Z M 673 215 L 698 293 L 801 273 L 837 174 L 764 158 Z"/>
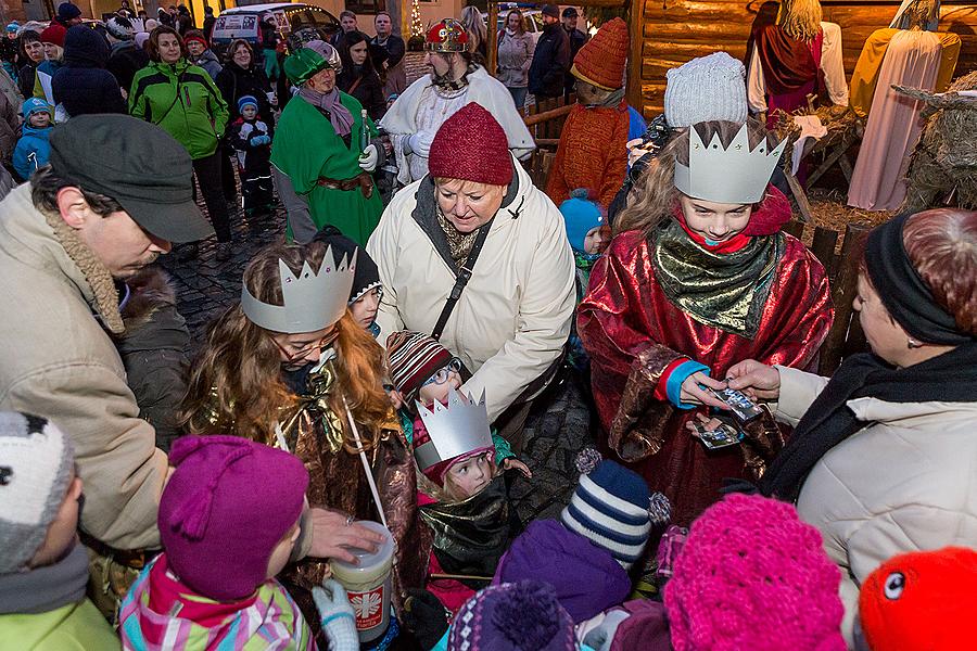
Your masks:
<path fill-rule="evenodd" d="M 665 120 L 673 128 L 747 119 L 746 66 L 725 52 L 693 59 L 665 74 Z"/>

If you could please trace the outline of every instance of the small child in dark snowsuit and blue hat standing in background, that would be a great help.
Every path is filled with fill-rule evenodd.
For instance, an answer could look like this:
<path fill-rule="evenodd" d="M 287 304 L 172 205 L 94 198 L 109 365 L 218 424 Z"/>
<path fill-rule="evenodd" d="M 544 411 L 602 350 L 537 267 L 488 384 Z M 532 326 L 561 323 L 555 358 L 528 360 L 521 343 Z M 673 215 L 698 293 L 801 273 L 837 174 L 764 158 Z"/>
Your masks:
<path fill-rule="evenodd" d="M 271 196 L 271 126 L 258 115 L 258 102 L 253 95 L 238 100 L 241 116 L 231 124 L 231 140 L 238 154 L 241 175 L 241 201 L 244 213 L 268 212 Z"/>

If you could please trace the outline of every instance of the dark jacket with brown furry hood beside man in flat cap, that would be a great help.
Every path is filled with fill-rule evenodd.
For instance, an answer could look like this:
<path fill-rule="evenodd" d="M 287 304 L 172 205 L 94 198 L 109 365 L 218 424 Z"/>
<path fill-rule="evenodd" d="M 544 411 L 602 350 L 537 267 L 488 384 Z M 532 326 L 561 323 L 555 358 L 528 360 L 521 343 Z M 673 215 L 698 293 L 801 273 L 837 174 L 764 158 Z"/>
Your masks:
<path fill-rule="evenodd" d="M 190 331 L 163 271 L 149 268 L 126 281 L 126 331 L 115 340 L 139 417 L 156 429 L 156 447 L 169 451 L 179 436 L 176 414 L 187 393 Z"/>

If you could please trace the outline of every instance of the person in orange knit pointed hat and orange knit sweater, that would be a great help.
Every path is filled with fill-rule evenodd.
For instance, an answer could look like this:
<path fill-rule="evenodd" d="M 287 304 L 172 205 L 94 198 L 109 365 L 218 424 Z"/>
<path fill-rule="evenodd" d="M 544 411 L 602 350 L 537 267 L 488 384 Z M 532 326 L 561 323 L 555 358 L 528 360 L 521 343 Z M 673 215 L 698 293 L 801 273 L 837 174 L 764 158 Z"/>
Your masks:
<path fill-rule="evenodd" d="M 605 23 L 576 56 L 570 74 L 576 78 L 578 103 L 567 116 L 546 194 L 560 205 L 576 188 L 586 188 L 607 210 L 627 170 L 625 143 L 647 125 L 624 99 L 624 64 L 630 38 L 621 18 Z"/>

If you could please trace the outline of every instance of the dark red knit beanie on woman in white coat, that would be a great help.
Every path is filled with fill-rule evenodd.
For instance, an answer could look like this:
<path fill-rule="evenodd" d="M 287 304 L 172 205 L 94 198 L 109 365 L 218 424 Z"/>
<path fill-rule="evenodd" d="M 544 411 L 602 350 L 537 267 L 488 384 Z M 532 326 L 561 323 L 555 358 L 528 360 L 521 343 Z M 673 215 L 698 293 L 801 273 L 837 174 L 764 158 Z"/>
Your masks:
<path fill-rule="evenodd" d="M 506 132 L 491 113 L 470 102 L 441 125 L 431 142 L 428 170 L 433 178 L 508 186 L 512 156 Z"/>

